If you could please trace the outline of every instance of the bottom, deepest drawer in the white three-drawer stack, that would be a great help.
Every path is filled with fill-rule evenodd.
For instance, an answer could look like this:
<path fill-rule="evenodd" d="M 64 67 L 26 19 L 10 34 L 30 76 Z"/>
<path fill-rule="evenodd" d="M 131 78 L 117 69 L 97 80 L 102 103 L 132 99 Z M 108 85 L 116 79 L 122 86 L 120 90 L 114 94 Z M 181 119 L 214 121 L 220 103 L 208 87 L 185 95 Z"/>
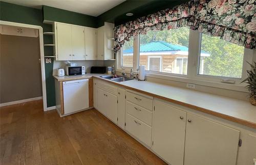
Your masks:
<path fill-rule="evenodd" d="M 132 135 L 137 137 L 141 142 L 151 147 L 152 127 L 146 125 L 142 121 L 132 117 L 129 114 L 125 115 L 126 126 L 125 129 Z"/>

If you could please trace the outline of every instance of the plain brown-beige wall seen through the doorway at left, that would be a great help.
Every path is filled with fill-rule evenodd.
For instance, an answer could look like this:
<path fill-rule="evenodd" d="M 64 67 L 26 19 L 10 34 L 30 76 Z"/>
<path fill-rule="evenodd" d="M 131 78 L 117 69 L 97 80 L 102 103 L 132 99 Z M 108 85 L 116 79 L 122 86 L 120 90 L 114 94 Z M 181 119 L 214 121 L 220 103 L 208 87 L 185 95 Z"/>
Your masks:
<path fill-rule="evenodd" d="M 39 38 L 0 35 L 0 103 L 42 96 Z"/>

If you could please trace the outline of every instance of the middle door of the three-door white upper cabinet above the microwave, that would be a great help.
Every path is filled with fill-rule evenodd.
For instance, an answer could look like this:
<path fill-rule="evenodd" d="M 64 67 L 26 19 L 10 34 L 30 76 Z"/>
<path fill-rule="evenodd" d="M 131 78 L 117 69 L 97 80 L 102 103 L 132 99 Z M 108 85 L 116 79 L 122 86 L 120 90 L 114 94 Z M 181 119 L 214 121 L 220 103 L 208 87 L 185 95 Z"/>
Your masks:
<path fill-rule="evenodd" d="M 72 60 L 85 60 L 84 28 L 72 26 Z"/>

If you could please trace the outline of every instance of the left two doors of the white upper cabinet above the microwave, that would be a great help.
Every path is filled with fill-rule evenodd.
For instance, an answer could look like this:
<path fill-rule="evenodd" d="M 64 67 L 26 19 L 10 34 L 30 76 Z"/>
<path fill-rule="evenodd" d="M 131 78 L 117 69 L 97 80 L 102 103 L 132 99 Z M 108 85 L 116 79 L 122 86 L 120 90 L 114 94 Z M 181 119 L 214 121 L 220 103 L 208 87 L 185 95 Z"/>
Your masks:
<path fill-rule="evenodd" d="M 56 60 L 85 60 L 84 28 L 66 23 L 56 23 Z"/>

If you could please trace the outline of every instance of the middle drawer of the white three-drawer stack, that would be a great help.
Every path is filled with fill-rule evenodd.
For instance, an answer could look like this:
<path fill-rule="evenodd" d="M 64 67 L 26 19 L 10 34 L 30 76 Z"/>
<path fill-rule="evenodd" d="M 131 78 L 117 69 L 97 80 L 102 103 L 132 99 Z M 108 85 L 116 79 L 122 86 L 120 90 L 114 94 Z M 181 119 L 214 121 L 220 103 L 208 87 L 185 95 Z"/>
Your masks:
<path fill-rule="evenodd" d="M 139 105 L 126 101 L 126 113 L 134 116 L 148 125 L 152 125 L 152 112 Z"/>

